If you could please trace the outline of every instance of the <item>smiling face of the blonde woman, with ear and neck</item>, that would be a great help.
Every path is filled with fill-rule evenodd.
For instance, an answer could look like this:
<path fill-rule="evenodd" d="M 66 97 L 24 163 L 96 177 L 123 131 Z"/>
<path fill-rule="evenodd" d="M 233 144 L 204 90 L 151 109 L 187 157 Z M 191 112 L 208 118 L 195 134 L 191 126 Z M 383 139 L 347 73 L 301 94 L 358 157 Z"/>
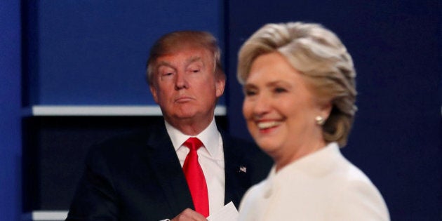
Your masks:
<path fill-rule="evenodd" d="M 248 130 L 277 169 L 325 146 L 314 119 L 327 118 L 330 105 L 316 102 L 304 77 L 282 55 L 268 53 L 255 59 L 244 84 Z"/>

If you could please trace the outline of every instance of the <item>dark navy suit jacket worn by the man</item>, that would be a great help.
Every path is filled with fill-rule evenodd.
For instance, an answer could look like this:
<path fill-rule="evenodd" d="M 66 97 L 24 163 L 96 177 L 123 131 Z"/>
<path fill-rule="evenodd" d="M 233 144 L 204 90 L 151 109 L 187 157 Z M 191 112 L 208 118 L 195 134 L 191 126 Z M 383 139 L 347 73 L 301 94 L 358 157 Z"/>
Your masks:
<path fill-rule="evenodd" d="M 225 203 L 236 208 L 248 187 L 267 177 L 272 160 L 255 145 L 222 133 Z M 164 123 L 95 145 L 67 220 L 163 220 L 194 208 Z"/>

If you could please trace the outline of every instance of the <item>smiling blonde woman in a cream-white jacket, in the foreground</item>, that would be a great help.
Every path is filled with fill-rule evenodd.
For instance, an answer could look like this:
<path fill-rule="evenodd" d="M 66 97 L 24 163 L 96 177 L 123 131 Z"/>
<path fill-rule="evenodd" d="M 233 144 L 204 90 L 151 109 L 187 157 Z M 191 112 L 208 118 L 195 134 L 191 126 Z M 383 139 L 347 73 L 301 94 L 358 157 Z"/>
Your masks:
<path fill-rule="evenodd" d="M 243 115 L 274 159 L 239 220 L 389 220 L 380 192 L 340 153 L 356 112 L 347 48 L 319 24 L 268 24 L 239 51 Z"/>

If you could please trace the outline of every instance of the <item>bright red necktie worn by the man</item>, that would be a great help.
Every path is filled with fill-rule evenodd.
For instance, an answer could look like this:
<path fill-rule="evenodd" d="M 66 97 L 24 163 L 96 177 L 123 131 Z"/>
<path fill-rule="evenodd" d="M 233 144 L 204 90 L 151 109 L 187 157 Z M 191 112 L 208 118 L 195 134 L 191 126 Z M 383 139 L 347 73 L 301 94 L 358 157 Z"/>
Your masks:
<path fill-rule="evenodd" d="M 199 166 L 198 154 L 196 153 L 196 150 L 203 146 L 203 143 L 198 138 L 189 138 L 184 142 L 184 145 L 189 147 L 190 152 L 186 156 L 182 170 L 184 170 L 187 185 L 189 185 L 195 210 L 205 217 L 208 217 L 209 208 L 206 178 L 204 178 L 203 170 L 201 166 Z"/>

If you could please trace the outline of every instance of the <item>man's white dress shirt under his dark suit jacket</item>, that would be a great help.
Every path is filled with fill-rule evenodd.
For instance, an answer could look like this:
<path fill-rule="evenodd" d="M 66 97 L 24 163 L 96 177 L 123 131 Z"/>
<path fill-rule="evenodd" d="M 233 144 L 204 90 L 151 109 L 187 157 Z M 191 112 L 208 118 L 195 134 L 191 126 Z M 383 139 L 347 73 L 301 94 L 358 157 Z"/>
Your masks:
<path fill-rule="evenodd" d="M 207 182 L 209 198 L 209 214 L 216 213 L 224 206 L 225 196 L 225 165 L 222 138 L 217 129 L 215 119 L 199 135 L 189 136 L 166 123 L 167 133 L 172 140 L 173 147 L 180 159 L 181 167 L 184 164 L 189 148 L 182 144 L 190 137 L 196 137 L 203 143 L 205 148 L 198 149 L 198 162 L 203 169 Z"/>

